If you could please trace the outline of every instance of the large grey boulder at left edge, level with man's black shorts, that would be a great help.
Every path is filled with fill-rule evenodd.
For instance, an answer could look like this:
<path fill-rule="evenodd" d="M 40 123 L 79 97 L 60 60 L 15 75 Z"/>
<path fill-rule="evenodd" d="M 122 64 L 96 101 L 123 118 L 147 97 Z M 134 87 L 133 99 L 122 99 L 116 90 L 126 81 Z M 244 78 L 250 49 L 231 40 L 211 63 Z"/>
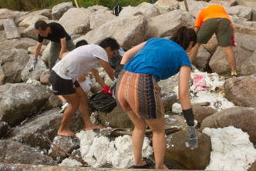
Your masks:
<path fill-rule="evenodd" d="M 35 115 L 45 105 L 52 92 L 46 86 L 16 83 L 0 86 L 0 121 L 15 126 Z"/>

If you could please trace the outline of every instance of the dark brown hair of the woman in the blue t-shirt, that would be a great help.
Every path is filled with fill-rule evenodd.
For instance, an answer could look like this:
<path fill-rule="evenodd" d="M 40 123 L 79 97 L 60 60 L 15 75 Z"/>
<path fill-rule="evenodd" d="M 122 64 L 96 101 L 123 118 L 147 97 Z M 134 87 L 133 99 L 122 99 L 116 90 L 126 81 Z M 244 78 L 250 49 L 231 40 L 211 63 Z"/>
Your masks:
<path fill-rule="evenodd" d="M 177 32 L 170 38 L 173 42 L 177 42 L 184 50 L 188 48 L 190 42 L 193 41 L 192 47 L 197 44 L 197 33 L 194 29 L 187 28 L 186 26 L 180 27 Z"/>

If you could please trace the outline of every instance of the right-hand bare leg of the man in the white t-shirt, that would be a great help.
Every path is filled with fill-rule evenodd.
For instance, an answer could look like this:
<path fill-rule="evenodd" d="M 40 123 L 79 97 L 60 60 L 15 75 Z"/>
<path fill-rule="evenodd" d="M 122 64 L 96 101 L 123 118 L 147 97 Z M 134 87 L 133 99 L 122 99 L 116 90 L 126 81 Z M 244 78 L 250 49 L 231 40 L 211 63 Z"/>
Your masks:
<path fill-rule="evenodd" d="M 88 97 L 86 92 L 83 91 L 81 87 L 76 88 L 76 94 L 79 96 L 80 106 L 79 111 L 82 113 L 83 121 L 86 124 L 86 131 L 92 129 L 101 129 L 103 126 L 93 125 L 93 122 L 89 119 L 89 106 L 88 106 Z"/>

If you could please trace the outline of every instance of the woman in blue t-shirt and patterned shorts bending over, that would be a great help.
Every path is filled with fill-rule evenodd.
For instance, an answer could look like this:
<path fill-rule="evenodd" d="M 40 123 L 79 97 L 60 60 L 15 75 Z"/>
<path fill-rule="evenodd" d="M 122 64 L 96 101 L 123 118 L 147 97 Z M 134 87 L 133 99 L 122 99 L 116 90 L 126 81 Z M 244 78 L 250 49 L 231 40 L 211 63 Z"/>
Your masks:
<path fill-rule="evenodd" d="M 121 61 L 124 67 L 116 83 L 116 101 L 135 126 L 132 138 L 135 163 L 132 168 L 149 166 L 142 159 L 143 139 L 148 125 L 153 132 L 156 167 L 167 169 L 163 164 L 166 150 L 164 108 L 157 82 L 177 72 L 180 72 L 179 99 L 189 132 L 186 145 L 191 149 L 197 147 L 194 114 L 189 99 L 192 65 L 187 55 L 196 43 L 196 32 L 192 28 L 181 27 L 170 40 L 149 39 L 124 53 Z"/>

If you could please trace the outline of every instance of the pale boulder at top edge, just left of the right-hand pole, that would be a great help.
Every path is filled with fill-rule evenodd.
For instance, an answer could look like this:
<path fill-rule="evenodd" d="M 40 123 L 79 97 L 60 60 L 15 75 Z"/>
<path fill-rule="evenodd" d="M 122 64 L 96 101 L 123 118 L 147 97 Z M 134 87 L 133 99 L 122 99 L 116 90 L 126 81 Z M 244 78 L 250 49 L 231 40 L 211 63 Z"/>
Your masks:
<path fill-rule="evenodd" d="M 177 0 L 158 0 L 153 4 L 160 14 L 164 14 L 179 8 L 179 2 Z"/>

